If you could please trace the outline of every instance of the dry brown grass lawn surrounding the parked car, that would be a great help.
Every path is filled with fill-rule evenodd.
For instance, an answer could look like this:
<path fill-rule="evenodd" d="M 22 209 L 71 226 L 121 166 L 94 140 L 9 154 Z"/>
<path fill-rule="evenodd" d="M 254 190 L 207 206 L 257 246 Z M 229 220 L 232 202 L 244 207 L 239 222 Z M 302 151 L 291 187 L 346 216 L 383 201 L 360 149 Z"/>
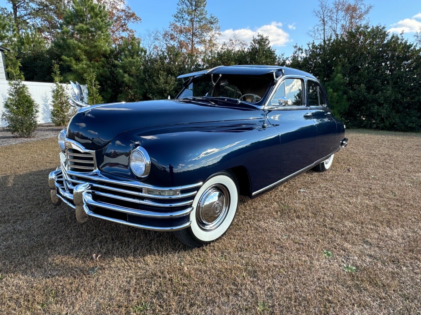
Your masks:
<path fill-rule="evenodd" d="M 229 232 L 199 249 L 79 225 L 49 200 L 56 139 L 0 147 L 0 313 L 421 312 L 421 136 L 347 136 L 328 172 L 242 198 Z"/>

